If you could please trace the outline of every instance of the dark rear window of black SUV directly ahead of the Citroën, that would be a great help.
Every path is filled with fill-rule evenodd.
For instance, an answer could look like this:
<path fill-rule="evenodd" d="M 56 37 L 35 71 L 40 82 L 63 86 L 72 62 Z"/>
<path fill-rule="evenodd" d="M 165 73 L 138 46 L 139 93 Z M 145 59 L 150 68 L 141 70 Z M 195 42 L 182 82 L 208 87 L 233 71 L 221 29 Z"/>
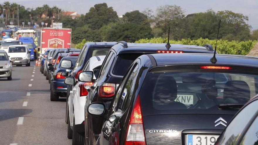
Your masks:
<path fill-rule="evenodd" d="M 113 74 L 118 76 L 124 76 L 127 69 L 133 63 L 133 61 L 141 56 L 142 53 L 127 53 L 127 54 L 119 54 L 115 66 L 113 68 Z"/>

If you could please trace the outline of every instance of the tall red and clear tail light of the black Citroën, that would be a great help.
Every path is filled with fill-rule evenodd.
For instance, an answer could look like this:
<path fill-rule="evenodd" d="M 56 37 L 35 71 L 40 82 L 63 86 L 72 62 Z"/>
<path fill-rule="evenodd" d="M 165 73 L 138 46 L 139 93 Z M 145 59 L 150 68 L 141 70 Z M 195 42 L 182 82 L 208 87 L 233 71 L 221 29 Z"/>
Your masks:
<path fill-rule="evenodd" d="M 142 120 L 142 107 L 138 95 L 126 132 L 125 145 L 146 145 Z"/>

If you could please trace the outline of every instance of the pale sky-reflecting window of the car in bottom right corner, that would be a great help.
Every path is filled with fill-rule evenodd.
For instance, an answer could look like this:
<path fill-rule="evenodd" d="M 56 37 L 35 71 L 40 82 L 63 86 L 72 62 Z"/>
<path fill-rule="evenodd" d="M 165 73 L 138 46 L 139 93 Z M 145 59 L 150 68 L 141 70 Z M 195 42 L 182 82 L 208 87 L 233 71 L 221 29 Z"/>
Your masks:
<path fill-rule="evenodd" d="M 248 122 L 257 112 L 257 109 L 254 109 L 257 108 L 257 105 L 258 101 L 252 102 L 235 116 L 225 131 L 221 134 L 221 137 L 218 140 L 220 145 L 231 145 L 236 142 L 236 140 L 242 135 L 242 132 Z M 254 127 L 254 129 L 256 129 L 256 132 L 258 131 L 257 125 Z M 254 137 L 254 135 L 255 134 L 253 134 L 252 137 Z"/>

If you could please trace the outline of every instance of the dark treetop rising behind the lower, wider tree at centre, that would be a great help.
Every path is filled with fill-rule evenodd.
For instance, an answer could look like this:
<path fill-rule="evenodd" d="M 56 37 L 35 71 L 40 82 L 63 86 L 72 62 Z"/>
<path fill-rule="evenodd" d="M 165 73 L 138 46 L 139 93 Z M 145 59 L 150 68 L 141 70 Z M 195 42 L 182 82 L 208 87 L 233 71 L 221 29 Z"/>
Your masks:
<path fill-rule="evenodd" d="M 125 18 L 129 23 L 150 25 L 147 15 L 139 12 L 138 10 L 125 13 L 123 18 Z"/>

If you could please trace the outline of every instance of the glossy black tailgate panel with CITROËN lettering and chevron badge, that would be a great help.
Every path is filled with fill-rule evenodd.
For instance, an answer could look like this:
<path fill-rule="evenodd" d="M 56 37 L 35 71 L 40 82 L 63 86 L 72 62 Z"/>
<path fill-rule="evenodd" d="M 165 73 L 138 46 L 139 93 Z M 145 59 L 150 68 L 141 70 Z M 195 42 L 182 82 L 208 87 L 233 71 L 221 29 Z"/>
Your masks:
<path fill-rule="evenodd" d="M 217 114 L 174 114 L 143 116 L 146 143 L 186 144 L 187 134 L 220 134 L 225 128 L 219 118 L 227 125 L 233 115 Z"/>

